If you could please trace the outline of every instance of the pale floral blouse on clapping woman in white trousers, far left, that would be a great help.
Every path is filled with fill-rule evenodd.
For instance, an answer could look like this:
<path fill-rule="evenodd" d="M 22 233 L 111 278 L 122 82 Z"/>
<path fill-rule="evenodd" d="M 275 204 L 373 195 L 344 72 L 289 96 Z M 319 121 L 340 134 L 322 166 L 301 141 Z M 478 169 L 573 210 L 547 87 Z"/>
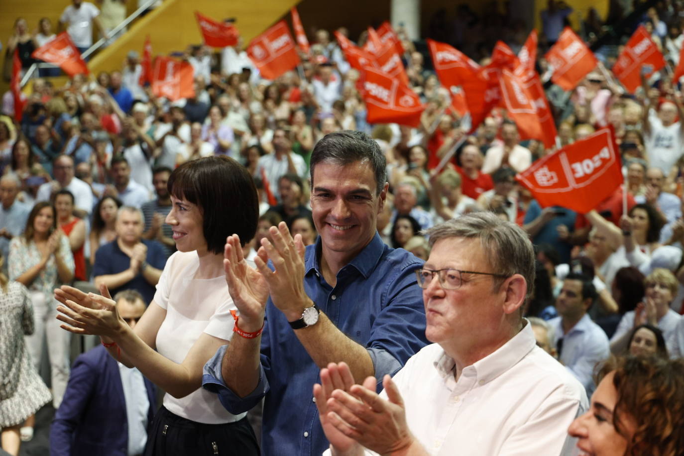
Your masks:
<path fill-rule="evenodd" d="M 61 237 L 59 254 L 64 258 L 66 267 L 73 273 L 75 269 L 74 256 L 71 253 L 69 240 L 66 236 Z M 10 242 L 10 263 L 8 265 L 10 280 L 16 280 L 29 268 L 40 263 L 40 258 L 40 252 L 34 241 L 27 242 L 23 236 L 14 237 Z M 42 291 L 48 299 L 52 297 L 55 287 L 60 284 L 59 280 L 55 256 L 51 255 L 45 267 L 27 288 L 31 291 Z"/>

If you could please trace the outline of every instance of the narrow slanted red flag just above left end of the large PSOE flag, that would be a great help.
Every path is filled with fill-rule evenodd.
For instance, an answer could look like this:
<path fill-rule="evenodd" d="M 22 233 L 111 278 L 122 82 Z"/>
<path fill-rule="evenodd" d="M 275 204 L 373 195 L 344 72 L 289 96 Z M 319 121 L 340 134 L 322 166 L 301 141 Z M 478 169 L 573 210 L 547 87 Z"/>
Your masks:
<path fill-rule="evenodd" d="M 539 122 L 534 98 L 523 85 L 523 82 L 509 70 L 501 70 L 499 75 L 501 99 L 518 126 L 521 138 L 541 139 L 542 125 Z"/>

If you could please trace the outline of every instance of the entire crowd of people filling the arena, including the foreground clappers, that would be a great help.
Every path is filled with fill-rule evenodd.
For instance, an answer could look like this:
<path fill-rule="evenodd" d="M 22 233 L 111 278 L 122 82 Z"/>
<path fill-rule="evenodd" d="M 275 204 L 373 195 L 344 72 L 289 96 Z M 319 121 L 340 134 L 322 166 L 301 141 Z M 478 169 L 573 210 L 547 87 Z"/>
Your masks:
<path fill-rule="evenodd" d="M 673 68 L 681 3 L 634 24 Z M 107 36 L 94 5 L 69 8 L 65 26 L 88 13 Z M 453 27 L 430 21 L 432 38 L 488 63 L 469 36 L 496 18 L 458 12 Z M 542 73 L 571 12 L 549 1 L 542 14 Z M 18 18 L 8 41 L 24 68 L 49 21 L 38 30 Z M 520 49 L 521 25 L 507 30 Z M 611 125 L 624 185 L 585 214 L 542 208 L 515 176 L 555 148 L 521 141 L 500 108 L 464 131 L 428 55 L 397 31 L 425 103 L 417 128 L 366 121 L 358 71 L 324 29 L 276 81 L 240 42 L 188 47 L 191 98 L 141 85 L 135 50 L 92 79 L 32 79 L 21 116 L 3 96 L 5 451 L 51 401 L 64 455 L 683 454 L 679 81 L 663 70 L 626 94 L 604 46 L 605 71 L 565 96 L 551 86 L 557 143 Z M 102 346 L 70 366 L 70 333 Z"/>

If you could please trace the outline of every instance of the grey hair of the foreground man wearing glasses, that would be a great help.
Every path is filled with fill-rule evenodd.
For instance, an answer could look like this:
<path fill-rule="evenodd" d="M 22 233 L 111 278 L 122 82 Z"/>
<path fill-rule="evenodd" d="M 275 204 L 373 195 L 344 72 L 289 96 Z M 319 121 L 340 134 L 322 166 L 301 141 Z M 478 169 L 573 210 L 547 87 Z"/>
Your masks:
<path fill-rule="evenodd" d="M 479 239 L 492 272 L 509 278 L 520 274 L 527 282 L 525 300 L 534 292 L 534 247 L 522 228 L 512 222 L 504 222 L 490 212 L 462 215 L 433 226 L 425 232 L 430 237 L 430 247 L 440 239 L 452 237 Z M 505 278 L 494 278 L 497 290 Z"/>

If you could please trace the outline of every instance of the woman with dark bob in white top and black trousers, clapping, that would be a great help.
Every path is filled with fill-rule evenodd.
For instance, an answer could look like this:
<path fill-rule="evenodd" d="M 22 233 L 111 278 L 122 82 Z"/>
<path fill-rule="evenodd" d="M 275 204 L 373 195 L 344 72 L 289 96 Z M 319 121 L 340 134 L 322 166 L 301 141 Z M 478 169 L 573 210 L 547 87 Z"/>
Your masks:
<path fill-rule="evenodd" d="M 137 325 L 131 329 L 124 322 L 105 286 L 102 296 L 70 286 L 55 291 L 64 304 L 58 318 L 64 330 L 101 336 L 111 356 L 167 392 L 145 455 L 258 455 L 245 414 L 231 414 L 202 389 L 202 368 L 233 335 L 224 245 L 231 234 L 254 237 L 257 189 L 246 168 L 228 157 L 183 163 L 172 172 L 168 189 L 172 209 L 166 223 L 178 252 L 166 262 L 155 298 Z"/>

